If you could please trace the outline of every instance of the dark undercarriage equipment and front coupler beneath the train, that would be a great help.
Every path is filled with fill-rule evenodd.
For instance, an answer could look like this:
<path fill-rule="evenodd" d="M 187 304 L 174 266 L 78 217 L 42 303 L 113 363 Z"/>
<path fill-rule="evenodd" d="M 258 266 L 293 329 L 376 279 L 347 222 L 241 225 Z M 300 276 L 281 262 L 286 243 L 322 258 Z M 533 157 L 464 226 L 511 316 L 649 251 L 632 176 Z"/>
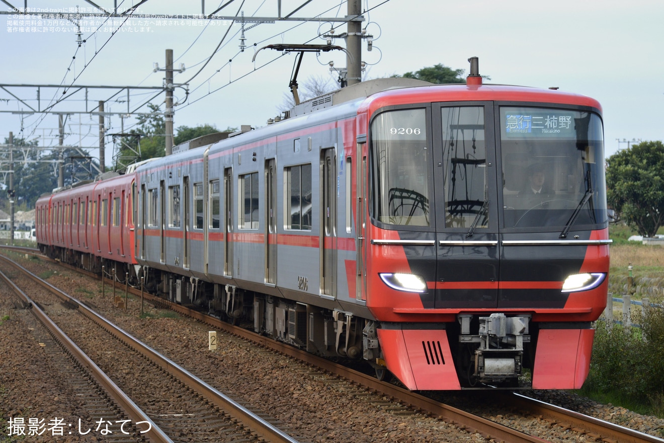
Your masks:
<path fill-rule="evenodd" d="M 96 274 L 103 271 L 107 277 L 116 276 L 121 284 L 129 278 L 130 286 L 139 287 L 141 276 L 145 276 L 145 290 L 170 302 L 195 306 L 230 323 L 244 324 L 256 333 L 321 357 L 365 361 L 373 367 L 378 379 L 390 377 L 378 341 L 379 321 L 236 286 L 128 266 L 56 246 L 42 248 L 42 252 L 54 260 Z M 419 326 L 408 323 L 398 327 Z M 530 315 L 460 314 L 456 323 L 442 323 L 438 327 L 446 329 L 462 387 L 491 385 L 514 389 L 520 383 L 523 386 L 519 379 L 523 369 L 533 366 L 532 349 L 537 337 L 537 332 L 531 331 Z M 436 349 L 429 349 L 428 354 L 432 360 L 442 357 Z"/>

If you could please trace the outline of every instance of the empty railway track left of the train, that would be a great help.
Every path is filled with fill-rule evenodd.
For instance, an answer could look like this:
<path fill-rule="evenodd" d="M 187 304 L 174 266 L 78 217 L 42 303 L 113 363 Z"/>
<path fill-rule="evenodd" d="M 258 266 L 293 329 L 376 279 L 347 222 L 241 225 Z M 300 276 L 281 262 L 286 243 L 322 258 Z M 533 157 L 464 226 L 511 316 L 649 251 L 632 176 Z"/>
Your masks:
<path fill-rule="evenodd" d="M 127 416 L 135 423 L 142 424 L 143 428 L 139 432 L 144 433 L 150 441 L 191 441 L 193 437 L 197 442 L 262 440 L 297 443 L 295 438 L 264 417 L 254 414 L 177 363 L 143 345 L 78 300 L 44 282 L 13 260 L 4 257 L 0 257 L 0 260 L 3 268 L 6 268 L 7 264 L 17 267 L 25 276 L 62 300 L 66 309 L 56 310 L 50 296 L 42 298 L 45 308 L 42 310 L 39 302 L 31 300 L 2 274 L 3 279 L 14 288 L 26 306 L 32 306 L 35 315 L 48 327 L 53 337 L 75 356 L 78 365 L 88 368 L 92 377 L 104 387 Z M 32 293 L 35 292 L 37 291 L 33 289 Z M 74 335 L 79 343 L 84 343 L 82 346 L 86 347 L 88 353 L 96 355 L 103 369 L 60 330 L 46 315 L 46 311 L 59 318 L 62 329 Z M 72 315 L 76 315 L 78 319 L 72 321 Z M 116 340 L 110 341 L 108 335 L 90 333 L 87 329 L 91 327 L 103 328 Z M 127 347 L 131 351 L 127 352 Z M 109 358 L 110 356 L 112 358 Z M 160 374 L 160 371 L 163 374 Z M 131 392 L 132 398 L 139 398 L 137 402 L 142 406 L 137 406 L 125 395 L 106 372 L 113 373 L 114 378 L 120 380 L 118 384 Z M 160 389 L 161 385 L 167 389 Z"/>

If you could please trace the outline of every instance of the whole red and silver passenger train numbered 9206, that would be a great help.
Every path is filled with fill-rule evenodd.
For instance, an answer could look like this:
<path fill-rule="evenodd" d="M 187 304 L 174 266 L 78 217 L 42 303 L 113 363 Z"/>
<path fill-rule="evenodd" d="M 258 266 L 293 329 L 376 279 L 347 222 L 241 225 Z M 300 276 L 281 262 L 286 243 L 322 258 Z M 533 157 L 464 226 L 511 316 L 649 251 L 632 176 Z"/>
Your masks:
<path fill-rule="evenodd" d="M 596 100 L 475 62 L 279 117 L 42 196 L 39 248 L 410 390 L 582 386 L 611 242 Z"/>

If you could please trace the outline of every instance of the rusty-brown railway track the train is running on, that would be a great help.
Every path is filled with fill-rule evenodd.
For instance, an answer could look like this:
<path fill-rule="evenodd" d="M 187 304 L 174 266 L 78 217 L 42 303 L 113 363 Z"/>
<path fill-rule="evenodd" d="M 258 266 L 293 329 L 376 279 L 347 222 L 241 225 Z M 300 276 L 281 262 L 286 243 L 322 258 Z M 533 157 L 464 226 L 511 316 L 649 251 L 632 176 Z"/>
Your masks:
<path fill-rule="evenodd" d="M 110 284 L 110 282 L 108 282 Z M 139 294 L 138 291 L 135 294 Z M 462 408 L 454 408 L 448 404 L 444 404 L 438 400 L 434 400 L 417 393 L 412 393 L 401 389 L 398 386 L 382 383 L 374 377 L 353 371 L 346 367 L 335 365 L 327 360 L 318 359 L 317 357 L 308 353 L 294 349 L 290 346 L 283 345 L 282 343 L 275 343 L 256 335 L 250 331 L 234 327 L 228 323 L 224 323 L 214 317 L 208 317 L 198 311 L 189 310 L 186 307 L 170 304 L 163 299 L 153 298 L 149 294 L 145 297 L 150 300 L 152 304 L 159 304 L 163 307 L 171 308 L 175 311 L 187 315 L 191 318 L 203 321 L 208 325 L 222 331 L 227 331 L 235 337 L 242 337 L 254 343 L 258 343 L 266 349 L 274 349 L 284 355 L 289 355 L 293 358 L 305 361 L 315 369 L 311 369 L 306 375 L 308 377 L 317 377 L 318 379 L 328 379 L 329 383 L 337 383 L 334 381 L 335 377 L 344 377 L 357 385 L 357 389 L 346 389 L 350 395 L 363 396 L 367 395 L 367 390 L 372 393 L 379 393 L 386 399 L 384 407 L 390 408 L 396 414 L 412 414 L 422 413 L 430 416 L 435 416 L 456 424 L 458 428 L 467 429 L 469 432 L 479 432 L 487 439 L 503 440 L 505 442 L 523 442 L 523 441 L 542 441 L 537 433 L 536 436 L 528 434 L 527 428 L 523 432 L 510 428 L 493 420 L 489 420 L 483 416 L 476 416 L 466 412 Z M 362 392 L 364 391 L 364 393 Z M 505 394 L 500 394 L 505 395 Z M 525 397 L 507 397 L 502 400 L 497 400 L 499 404 L 509 404 L 513 407 L 518 407 L 523 410 L 523 421 L 532 419 L 536 416 L 540 422 L 544 420 L 557 428 L 564 430 L 569 434 L 570 439 L 584 438 L 586 440 L 604 440 L 606 442 L 662 442 L 663 440 L 642 434 L 640 432 L 623 428 L 602 420 L 596 420 L 592 417 L 583 416 L 576 412 L 566 411 L 556 406 L 542 404 L 541 402 L 533 403 L 530 399 Z M 410 411 L 410 412 L 409 412 Z M 496 414 L 495 410 L 493 414 Z"/>

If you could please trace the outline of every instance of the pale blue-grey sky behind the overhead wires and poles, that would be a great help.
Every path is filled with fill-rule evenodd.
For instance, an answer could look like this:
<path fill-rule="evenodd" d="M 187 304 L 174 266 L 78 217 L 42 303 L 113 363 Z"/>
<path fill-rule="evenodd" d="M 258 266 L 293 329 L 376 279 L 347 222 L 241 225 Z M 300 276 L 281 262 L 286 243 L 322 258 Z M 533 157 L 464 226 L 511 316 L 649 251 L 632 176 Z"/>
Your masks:
<path fill-rule="evenodd" d="M 250 17 L 277 17 L 278 3 L 285 16 L 306 0 L 234 0 L 218 15 L 247 17 L 247 48 L 240 51 L 242 27 L 238 22 L 159 18 L 165 14 L 201 14 L 203 7 L 205 13 L 211 13 L 226 2 L 149 0 L 124 23 L 122 19 L 110 23 L 101 15 L 82 19 L 80 38 L 84 43 L 77 43 L 72 23 L 35 17 L 39 11 L 73 12 L 77 5 L 99 12 L 84 0 L 28 0 L 28 7 L 35 12 L 29 25 L 25 17 L 0 15 L 0 84 L 66 86 L 39 91 L 36 86 L 0 88 L 0 143 L 13 132 L 14 137 L 37 139 L 41 146 L 58 144 L 58 116 L 26 114 L 29 106 L 44 110 L 54 104 L 50 108 L 54 112 L 72 112 L 65 122 L 65 145 L 99 145 L 98 116 L 89 114 L 99 100 L 108 100 L 105 111 L 114 113 L 106 117 L 107 134 L 135 129 L 137 116 L 121 118 L 120 114 L 136 108 L 136 112 L 148 112 L 146 106 L 139 106 L 153 98 L 154 91 L 131 90 L 129 109 L 126 91 L 113 96 L 117 90 L 89 88 L 87 96 L 81 90 L 66 100 L 61 98 L 72 92 L 72 84 L 161 86 L 164 72 L 153 69 L 155 62 L 159 68 L 165 66 L 166 49 L 173 50 L 176 68 L 185 65 L 184 72 L 175 73 L 175 83 L 186 82 L 189 89 L 188 96 L 185 86 L 175 90 L 175 128 L 265 126 L 284 109 L 295 54 L 270 49 L 256 53 L 256 48 L 276 43 L 324 44 L 317 36 L 340 24 L 315 19 L 256 25 Z M 24 5 L 23 0 L 7 3 Z M 117 3 L 123 11 L 139 0 L 94 3 L 107 9 Z M 438 63 L 467 72 L 467 59 L 477 56 L 479 72 L 491 78 L 489 83 L 558 87 L 598 100 L 604 111 L 607 157 L 635 141 L 664 140 L 664 1 L 362 0 L 362 9 L 363 27 L 373 35 L 371 52 L 363 42 L 366 79 Z M 9 7 L 0 3 L 0 10 L 9 11 Z M 343 17 L 347 4 L 311 0 L 294 15 Z M 121 23 L 122 27 L 111 33 L 110 29 L 118 29 Z M 334 32 L 345 31 L 341 25 Z M 333 44 L 345 46 L 343 39 L 335 39 Z M 305 54 L 299 83 L 315 77 L 334 84 L 337 74 L 330 70 L 331 61 L 335 68 L 341 68 L 346 64 L 345 54 Z M 68 93 L 63 94 L 63 90 Z M 161 93 L 151 103 L 163 111 L 164 97 Z M 98 155 L 98 149 L 88 151 Z M 107 135 L 107 167 L 112 165 L 112 151 L 112 137 Z"/>

